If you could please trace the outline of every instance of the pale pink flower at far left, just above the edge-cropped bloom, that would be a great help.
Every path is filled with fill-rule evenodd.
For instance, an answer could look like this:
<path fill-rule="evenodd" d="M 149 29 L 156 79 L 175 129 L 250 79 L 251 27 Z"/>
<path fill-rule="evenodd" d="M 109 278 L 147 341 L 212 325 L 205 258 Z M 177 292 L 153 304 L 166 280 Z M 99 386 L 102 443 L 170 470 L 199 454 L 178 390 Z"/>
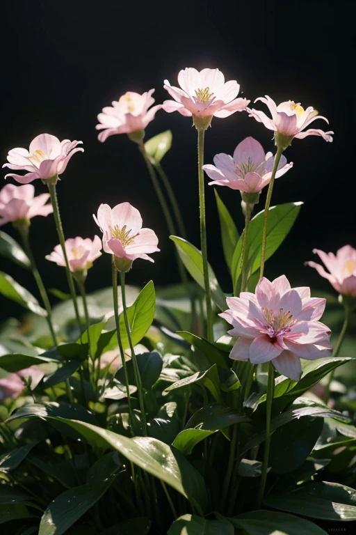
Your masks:
<path fill-rule="evenodd" d="M 64 139 L 59 141 L 51 134 L 40 134 L 31 141 L 30 148 L 13 148 L 8 153 L 8 164 L 3 167 L 9 167 L 16 171 L 30 171 L 26 175 L 16 175 L 9 173 L 20 184 L 28 184 L 36 178 L 48 180 L 54 176 L 64 173 L 67 163 L 72 155 L 84 151 L 83 148 L 75 148 L 81 141 L 70 141 Z"/>

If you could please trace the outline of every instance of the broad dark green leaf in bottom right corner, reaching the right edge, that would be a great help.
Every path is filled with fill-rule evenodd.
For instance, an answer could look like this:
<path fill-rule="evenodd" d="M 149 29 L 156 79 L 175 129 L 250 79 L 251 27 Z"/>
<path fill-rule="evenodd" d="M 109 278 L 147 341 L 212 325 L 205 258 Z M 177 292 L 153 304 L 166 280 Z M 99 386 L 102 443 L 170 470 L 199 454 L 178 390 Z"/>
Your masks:
<path fill-rule="evenodd" d="M 356 490 L 340 483 L 309 483 L 291 493 L 269 495 L 264 504 L 309 518 L 356 520 Z"/>

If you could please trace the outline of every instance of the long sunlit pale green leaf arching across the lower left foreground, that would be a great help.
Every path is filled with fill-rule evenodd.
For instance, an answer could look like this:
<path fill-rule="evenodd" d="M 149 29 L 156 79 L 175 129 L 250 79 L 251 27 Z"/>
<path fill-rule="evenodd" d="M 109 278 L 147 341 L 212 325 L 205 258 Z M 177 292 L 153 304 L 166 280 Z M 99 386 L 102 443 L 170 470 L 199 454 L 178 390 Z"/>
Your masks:
<path fill-rule="evenodd" d="M 168 483 L 181 495 L 200 504 L 202 509 L 207 502 L 204 479 L 186 458 L 168 444 L 152 437 L 129 438 L 83 421 L 49 418 L 80 433 L 92 447 L 115 449 L 135 465 L 152 476 Z"/>

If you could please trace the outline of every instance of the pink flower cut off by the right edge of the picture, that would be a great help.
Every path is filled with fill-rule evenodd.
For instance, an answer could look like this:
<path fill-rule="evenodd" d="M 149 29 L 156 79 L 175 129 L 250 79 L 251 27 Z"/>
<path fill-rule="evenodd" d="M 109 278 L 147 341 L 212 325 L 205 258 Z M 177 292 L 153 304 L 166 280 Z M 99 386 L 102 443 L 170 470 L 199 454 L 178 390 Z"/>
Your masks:
<path fill-rule="evenodd" d="M 315 267 L 318 274 L 325 277 L 337 292 L 356 297 L 356 249 L 345 245 L 337 251 L 336 256 L 319 249 L 313 249 L 313 253 L 318 254 L 329 273 L 316 262 L 307 262 L 307 265 Z"/>

